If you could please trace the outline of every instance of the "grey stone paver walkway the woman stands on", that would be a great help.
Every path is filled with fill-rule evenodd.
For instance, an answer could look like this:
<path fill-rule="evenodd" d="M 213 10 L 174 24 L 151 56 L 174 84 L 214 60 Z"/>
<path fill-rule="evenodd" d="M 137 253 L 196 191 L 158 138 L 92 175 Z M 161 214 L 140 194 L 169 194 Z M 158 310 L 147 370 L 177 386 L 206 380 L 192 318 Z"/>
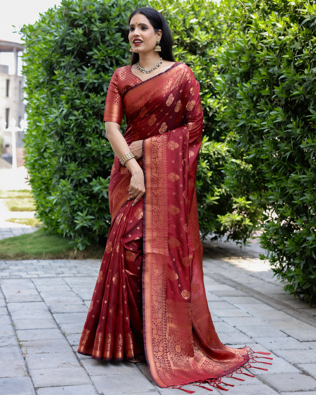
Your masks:
<path fill-rule="evenodd" d="M 258 246 L 207 243 L 205 289 L 216 331 L 233 347 L 272 352 L 268 371 L 225 379 L 229 395 L 316 394 L 316 308 L 286 295 Z M 0 261 L 0 395 L 179 395 L 146 363 L 76 353 L 100 260 Z M 267 360 L 263 360 L 267 361 Z M 196 394 L 206 389 L 185 386 Z M 212 394 L 226 391 L 213 389 Z"/>

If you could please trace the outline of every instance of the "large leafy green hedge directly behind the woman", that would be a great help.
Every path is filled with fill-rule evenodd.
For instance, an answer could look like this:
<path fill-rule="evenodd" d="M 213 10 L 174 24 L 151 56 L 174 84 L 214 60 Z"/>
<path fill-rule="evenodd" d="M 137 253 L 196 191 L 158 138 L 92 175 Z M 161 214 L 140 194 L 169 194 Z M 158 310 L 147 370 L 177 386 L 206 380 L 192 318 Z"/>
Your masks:
<path fill-rule="evenodd" d="M 29 120 L 26 166 L 38 215 L 47 228 L 72 236 L 80 249 L 107 236 L 113 152 L 102 121 L 105 96 L 115 68 L 129 62 L 128 15 L 146 5 L 164 14 L 177 60 L 193 69 L 201 85 L 205 114 L 197 176 L 201 233 L 246 241 L 256 228 L 258 210 L 249 199 L 234 198 L 224 187 L 222 167 L 230 160 L 231 137 L 229 130 L 220 130 L 215 117 L 222 107 L 214 93 L 216 56 L 228 26 L 218 6 L 202 0 L 67 0 L 34 25 L 23 27 Z"/>

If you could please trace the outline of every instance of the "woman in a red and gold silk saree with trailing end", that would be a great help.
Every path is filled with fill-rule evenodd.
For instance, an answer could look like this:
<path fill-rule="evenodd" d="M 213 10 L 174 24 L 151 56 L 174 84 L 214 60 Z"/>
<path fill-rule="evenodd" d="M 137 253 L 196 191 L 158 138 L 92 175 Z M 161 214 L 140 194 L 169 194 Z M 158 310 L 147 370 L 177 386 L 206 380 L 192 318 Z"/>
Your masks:
<path fill-rule="evenodd" d="M 146 357 L 160 387 L 220 387 L 219 378 L 250 356 L 246 347 L 220 342 L 205 296 L 195 191 L 199 84 L 175 62 L 158 11 L 135 10 L 129 26 L 132 66 L 115 70 L 104 112 L 116 154 L 112 224 L 78 352 L 132 362 Z"/>

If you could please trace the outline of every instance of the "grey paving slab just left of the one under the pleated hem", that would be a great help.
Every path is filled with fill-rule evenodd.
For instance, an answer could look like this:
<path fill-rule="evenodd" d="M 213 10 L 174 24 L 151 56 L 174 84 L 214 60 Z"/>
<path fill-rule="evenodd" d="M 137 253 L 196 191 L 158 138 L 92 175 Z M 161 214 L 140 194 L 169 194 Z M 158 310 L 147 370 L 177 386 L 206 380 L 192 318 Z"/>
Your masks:
<path fill-rule="evenodd" d="M 72 350 L 49 354 L 27 354 L 25 358 L 29 369 L 80 367 L 79 361 Z"/>

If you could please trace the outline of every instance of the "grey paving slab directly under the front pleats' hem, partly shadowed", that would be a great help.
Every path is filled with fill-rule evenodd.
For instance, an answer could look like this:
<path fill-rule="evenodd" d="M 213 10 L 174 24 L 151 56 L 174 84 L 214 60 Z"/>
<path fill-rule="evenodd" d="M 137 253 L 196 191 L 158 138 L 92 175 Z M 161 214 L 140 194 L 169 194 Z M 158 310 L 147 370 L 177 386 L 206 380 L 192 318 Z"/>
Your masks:
<path fill-rule="evenodd" d="M 85 367 L 89 376 L 98 376 L 100 374 L 104 374 L 105 376 L 113 376 L 113 374 L 139 373 L 137 366 L 134 363 L 129 362 L 103 361 L 102 359 L 92 359 L 91 357 L 88 357 L 87 359 L 83 359 L 81 363 Z"/>

